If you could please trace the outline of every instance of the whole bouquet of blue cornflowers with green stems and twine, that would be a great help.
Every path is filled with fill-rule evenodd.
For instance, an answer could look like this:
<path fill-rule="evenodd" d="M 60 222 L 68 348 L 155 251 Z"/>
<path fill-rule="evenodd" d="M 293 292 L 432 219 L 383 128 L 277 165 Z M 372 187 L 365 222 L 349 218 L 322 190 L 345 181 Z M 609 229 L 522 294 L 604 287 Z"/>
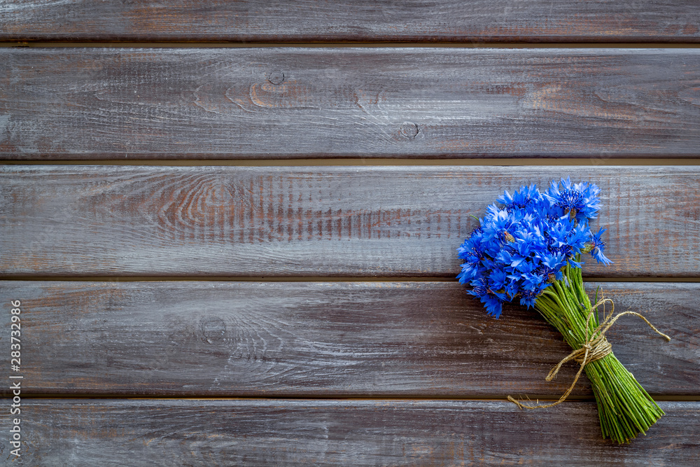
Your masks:
<path fill-rule="evenodd" d="M 508 396 L 521 408 L 551 407 L 561 403 L 585 370 L 598 403 L 603 438 L 627 442 L 644 433 L 664 412 L 620 363 L 605 339 L 605 332 L 619 316 L 612 311 L 598 319 L 584 291 L 581 255 L 590 253 L 598 263 L 609 265 L 605 256 L 605 229 L 593 233 L 589 220 L 600 209 L 600 189 L 592 183 L 552 181 L 544 193 L 535 185 L 522 186 L 514 195 L 507 191 L 491 204 L 479 226 L 457 249 L 465 262 L 457 278 L 469 284 L 470 295 L 479 298 L 489 315 L 498 318 L 504 302 L 535 307 L 575 349 L 552 369 L 551 380 L 566 361 L 580 363 L 570 388 L 555 403 L 527 405 Z"/>

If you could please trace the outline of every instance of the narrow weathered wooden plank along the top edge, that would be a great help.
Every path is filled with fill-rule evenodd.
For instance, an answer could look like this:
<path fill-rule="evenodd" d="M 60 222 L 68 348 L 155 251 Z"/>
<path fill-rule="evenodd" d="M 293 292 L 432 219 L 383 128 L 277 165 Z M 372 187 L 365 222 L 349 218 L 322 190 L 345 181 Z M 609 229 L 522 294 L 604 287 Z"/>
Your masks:
<path fill-rule="evenodd" d="M 21 1 L 10 41 L 669 41 L 700 39 L 694 0 Z"/>

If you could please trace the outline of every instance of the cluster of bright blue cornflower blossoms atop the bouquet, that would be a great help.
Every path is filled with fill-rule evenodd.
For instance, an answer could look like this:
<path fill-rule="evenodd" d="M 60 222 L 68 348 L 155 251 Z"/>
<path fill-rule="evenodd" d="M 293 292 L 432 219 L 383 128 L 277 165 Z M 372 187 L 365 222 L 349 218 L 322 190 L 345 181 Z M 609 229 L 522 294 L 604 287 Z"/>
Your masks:
<path fill-rule="evenodd" d="M 612 263 L 604 254 L 605 229 L 591 233 L 589 220 L 598 216 L 600 188 L 593 183 L 552 181 L 540 193 L 537 186 L 507 191 L 479 219 L 479 226 L 457 249 L 464 260 L 457 275 L 469 284 L 486 312 L 498 318 L 503 303 L 518 300 L 533 307 L 561 268 L 581 267 L 580 253 L 591 253 L 598 263 Z"/>

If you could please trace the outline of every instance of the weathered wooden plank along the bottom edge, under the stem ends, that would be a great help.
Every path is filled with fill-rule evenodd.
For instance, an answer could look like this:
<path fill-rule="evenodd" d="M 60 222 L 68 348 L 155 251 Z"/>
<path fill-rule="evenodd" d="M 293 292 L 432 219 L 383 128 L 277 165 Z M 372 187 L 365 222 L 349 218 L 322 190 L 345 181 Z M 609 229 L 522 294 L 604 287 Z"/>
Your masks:
<path fill-rule="evenodd" d="M 601 439 L 594 403 L 30 399 L 21 454 L 47 466 L 694 465 L 700 403 L 660 405 L 647 436 L 619 446 Z"/>

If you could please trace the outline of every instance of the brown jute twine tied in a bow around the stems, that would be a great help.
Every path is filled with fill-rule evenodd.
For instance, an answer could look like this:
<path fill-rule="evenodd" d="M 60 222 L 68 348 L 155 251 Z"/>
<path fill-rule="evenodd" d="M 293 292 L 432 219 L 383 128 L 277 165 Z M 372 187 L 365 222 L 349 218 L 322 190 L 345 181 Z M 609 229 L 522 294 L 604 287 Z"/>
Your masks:
<path fill-rule="evenodd" d="M 603 322 L 600 323 L 600 325 L 593 330 L 593 333 L 591 333 L 591 337 L 588 337 L 588 327 L 589 323 L 591 322 L 591 319 L 594 316 L 594 313 L 596 312 L 596 309 L 598 309 L 599 306 L 605 305 L 605 303 L 610 303 L 610 313 L 605 314 L 605 307 L 603 307 Z M 641 319 L 644 320 L 645 323 L 647 323 L 650 328 L 652 328 L 654 331 L 656 331 L 657 334 L 663 336 L 667 341 L 671 340 L 671 337 L 668 337 L 666 334 L 661 333 L 660 330 L 654 327 L 652 323 L 649 322 L 644 316 L 642 316 L 639 313 L 636 312 L 623 312 L 617 314 L 617 316 L 613 317 L 613 314 L 615 314 L 615 303 L 610 300 L 610 298 L 602 298 L 596 305 L 591 307 L 591 311 L 588 313 L 588 317 L 586 319 L 586 339 L 584 340 L 584 344 L 580 347 L 580 349 L 576 349 L 575 351 L 571 352 L 568 354 L 568 356 L 564 357 L 561 359 L 559 363 L 556 364 L 552 370 L 549 370 L 549 374 L 545 379 L 547 381 L 552 381 L 554 377 L 556 376 L 556 373 L 559 372 L 559 369 L 561 368 L 561 365 L 564 363 L 573 360 L 576 361 L 577 363 L 580 363 L 580 367 L 578 369 L 578 372 L 576 373 L 576 377 L 573 379 L 573 382 L 571 383 L 571 386 L 569 386 L 569 389 L 566 390 L 565 393 L 559 398 L 554 403 L 551 404 L 543 404 L 540 405 L 539 403 L 536 405 L 527 405 L 522 403 L 519 400 L 515 400 L 511 396 L 508 396 L 508 400 L 510 402 L 514 403 L 521 409 L 545 409 L 547 407 L 554 407 L 554 405 L 561 404 L 566 398 L 569 396 L 571 391 L 573 391 L 574 386 L 576 386 L 576 382 L 578 381 L 578 378 L 581 376 L 581 373 L 583 372 L 583 368 L 591 363 L 591 361 L 596 361 L 600 360 L 604 356 L 611 354 L 612 353 L 612 346 L 610 345 L 610 342 L 608 342 L 607 339 L 605 339 L 605 333 L 608 332 L 608 329 L 610 329 L 610 326 L 615 324 L 615 321 L 617 321 L 619 318 L 626 314 L 633 314 L 634 316 L 639 316 Z"/>

